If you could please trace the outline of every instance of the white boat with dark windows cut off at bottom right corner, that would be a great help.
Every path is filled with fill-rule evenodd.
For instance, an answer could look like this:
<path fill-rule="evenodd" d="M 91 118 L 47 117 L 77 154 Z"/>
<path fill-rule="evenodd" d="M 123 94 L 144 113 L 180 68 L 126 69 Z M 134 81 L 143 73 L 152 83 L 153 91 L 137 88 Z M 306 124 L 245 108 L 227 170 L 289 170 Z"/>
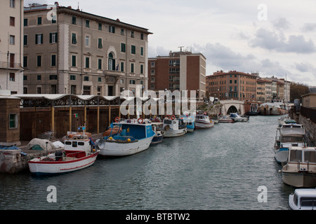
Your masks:
<path fill-rule="evenodd" d="M 289 195 L 289 207 L 293 210 L 315 210 L 316 189 L 301 188 L 294 190 L 294 193 Z"/>

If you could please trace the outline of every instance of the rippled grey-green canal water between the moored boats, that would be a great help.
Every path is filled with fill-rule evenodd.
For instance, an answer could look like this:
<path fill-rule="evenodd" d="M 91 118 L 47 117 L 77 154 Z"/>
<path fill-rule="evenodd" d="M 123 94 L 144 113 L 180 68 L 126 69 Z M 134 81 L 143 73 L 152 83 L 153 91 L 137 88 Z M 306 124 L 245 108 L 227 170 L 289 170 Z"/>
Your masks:
<path fill-rule="evenodd" d="M 0 174 L 0 209 L 289 209 L 294 188 L 272 151 L 278 118 L 218 123 L 68 174 Z M 56 202 L 47 200 L 49 186 Z"/>

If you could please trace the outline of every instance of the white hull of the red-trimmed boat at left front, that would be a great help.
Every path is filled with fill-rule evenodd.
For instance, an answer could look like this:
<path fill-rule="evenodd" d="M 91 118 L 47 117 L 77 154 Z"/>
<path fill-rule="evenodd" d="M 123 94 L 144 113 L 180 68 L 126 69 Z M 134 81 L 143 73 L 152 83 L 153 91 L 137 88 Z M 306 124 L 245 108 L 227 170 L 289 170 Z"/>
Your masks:
<path fill-rule="evenodd" d="M 37 175 L 74 172 L 93 165 L 98 153 L 99 151 L 84 158 L 73 158 L 73 160 L 67 161 L 41 161 L 41 158 L 35 158 L 29 160 L 29 171 Z"/>

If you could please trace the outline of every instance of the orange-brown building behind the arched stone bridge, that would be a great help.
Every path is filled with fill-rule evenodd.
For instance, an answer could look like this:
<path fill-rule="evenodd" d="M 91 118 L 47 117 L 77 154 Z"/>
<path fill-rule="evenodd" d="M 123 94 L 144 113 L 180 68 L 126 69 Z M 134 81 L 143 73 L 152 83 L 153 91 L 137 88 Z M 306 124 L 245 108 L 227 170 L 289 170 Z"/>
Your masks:
<path fill-rule="evenodd" d="M 256 78 L 257 73 L 216 71 L 206 76 L 206 94 L 220 99 L 256 100 Z"/>

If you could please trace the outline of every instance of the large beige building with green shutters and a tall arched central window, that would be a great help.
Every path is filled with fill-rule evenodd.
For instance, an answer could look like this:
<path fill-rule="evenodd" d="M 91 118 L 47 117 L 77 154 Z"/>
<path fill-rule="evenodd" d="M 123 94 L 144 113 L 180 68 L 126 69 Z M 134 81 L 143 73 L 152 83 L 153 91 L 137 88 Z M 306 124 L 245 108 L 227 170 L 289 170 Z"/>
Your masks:
<path fill-rule="evenodd" d="M 72 7 L 24 10 L 24 93 L 118 96 L 147 89 L 148 29 Z"/>

